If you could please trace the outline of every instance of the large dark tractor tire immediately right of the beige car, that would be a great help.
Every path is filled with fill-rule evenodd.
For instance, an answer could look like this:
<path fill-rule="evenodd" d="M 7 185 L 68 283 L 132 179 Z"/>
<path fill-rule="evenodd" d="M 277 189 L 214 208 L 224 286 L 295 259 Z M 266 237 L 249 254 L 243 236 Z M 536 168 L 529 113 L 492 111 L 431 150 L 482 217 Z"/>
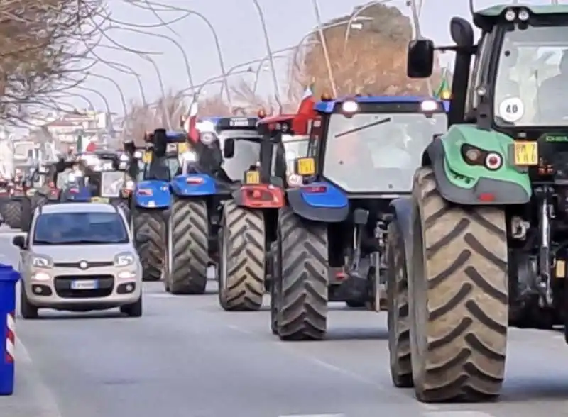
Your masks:
<path fill-rule="evenodd" d="M 159 281 L 165 258 L 165 222 L 163 211 L 135 208 L 132 216 L 133 236 L 136 250 L 142 262 L 143 281 Z M 148 242 L 139 243 L 138 236 L 148 235 Z"/>

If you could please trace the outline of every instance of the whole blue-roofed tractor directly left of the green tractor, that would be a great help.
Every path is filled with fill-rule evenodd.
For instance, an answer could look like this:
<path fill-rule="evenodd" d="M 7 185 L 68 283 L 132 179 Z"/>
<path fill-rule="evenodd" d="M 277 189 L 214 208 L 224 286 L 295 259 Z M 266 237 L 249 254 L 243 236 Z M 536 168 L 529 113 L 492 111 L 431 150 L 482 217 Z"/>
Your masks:
<path fill-rule="evenodd" d="M 271 262 L 272 330 L 282 340 L 324 338 L 328 301 L 386 308 L 391 201 L 410 193 L 422 151 L 447 129 L 442 103 L 418 97 L 356 96 L 315 111 Z"/>

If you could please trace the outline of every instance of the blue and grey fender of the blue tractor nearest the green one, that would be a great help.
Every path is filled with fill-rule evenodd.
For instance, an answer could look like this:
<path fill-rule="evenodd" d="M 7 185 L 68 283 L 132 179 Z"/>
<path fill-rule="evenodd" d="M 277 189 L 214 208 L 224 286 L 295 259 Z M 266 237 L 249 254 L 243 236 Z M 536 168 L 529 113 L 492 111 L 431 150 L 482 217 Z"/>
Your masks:
<path fill-rule="evenodd" d="M 311 192 L 322 187 L 322 192 Z M 349 199 L 328 182 L 312 182 L 305 187 L 286 190 L 288 204 L 297 216 L 322 223 L 339 223 L 349 216 Z"/>

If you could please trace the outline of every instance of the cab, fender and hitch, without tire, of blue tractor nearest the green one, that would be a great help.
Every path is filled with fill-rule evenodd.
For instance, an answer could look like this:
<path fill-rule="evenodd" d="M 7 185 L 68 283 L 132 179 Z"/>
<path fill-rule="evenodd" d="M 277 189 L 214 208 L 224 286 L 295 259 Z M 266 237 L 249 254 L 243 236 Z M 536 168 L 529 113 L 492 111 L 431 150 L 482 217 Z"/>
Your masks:
<path fill-rule="evenodd" d="M 307 157 L 295 160 L 295 194 L 312 216 L 330 222 L 331 299 L 379 308 L 391 201 L 410 194 L 422 152 L 447 129 L 441 101 L 409 96 L 354 96 L 315 104 Z M 320 201 L 331 201 L 325 210 Z M 302 203 L 303 204 L 303 203 Z M 349 277 L 345 282 L 344 277 Z"/>

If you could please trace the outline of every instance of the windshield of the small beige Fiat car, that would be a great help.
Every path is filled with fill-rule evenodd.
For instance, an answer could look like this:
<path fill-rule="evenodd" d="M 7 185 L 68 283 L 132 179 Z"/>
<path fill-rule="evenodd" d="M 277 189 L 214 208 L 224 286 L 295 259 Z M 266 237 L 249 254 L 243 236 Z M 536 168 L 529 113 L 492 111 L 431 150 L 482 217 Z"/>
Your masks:
<path fill-rule="evenodd" d="M 119 213 L 42 213 L 35 222 L 35 245 L 128 243 Z"/>

